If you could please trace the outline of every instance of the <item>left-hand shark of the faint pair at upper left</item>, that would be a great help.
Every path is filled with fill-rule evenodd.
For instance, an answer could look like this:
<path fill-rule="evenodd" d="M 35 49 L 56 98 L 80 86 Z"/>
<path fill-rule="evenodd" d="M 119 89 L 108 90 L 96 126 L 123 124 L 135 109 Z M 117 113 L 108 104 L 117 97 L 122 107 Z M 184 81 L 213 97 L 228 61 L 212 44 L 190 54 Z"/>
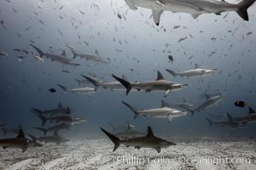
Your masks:
<path fill-rule="evenodd" d="M 36 46 L 31 44 L 32 48 L 35 48 L 37 50 L 37 53 L 40 55 L 41 58 L 45 56 L 47 59 L 51 59 L 52 61 L 58 61 L 59 63 L 62 63 L 64 65 L 80 65 L 77 63 L 71 62 L 70 59 L 67 59 L 65 56 L 65 51 L 62 52 L 62 54 L 57 55 L 57 54 L 46 54 L 43 53 L 43 51 L 40 48 L 37 48 Z"/>

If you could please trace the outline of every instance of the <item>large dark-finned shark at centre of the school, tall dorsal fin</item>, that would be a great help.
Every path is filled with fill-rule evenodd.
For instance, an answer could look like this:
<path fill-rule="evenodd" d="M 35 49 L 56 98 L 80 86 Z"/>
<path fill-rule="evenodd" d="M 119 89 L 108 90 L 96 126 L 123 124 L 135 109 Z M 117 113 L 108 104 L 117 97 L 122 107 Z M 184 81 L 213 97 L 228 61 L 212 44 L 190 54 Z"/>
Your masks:
<path fill-rule="evenodd" d="M 171 91 L 176 91 L 183 89 L 187 86 L 187 84 L 181 84 L 177 82 L 170 82 L 165 80 L 162 77 L 162 73 L 160 71 L 157 71 L 157 78 L 155 81 L 150 81 L 150 82 L 135 82 L 135 83 L 130 83 L 126 80 L 123 80 L 120 77 L 116 77 L 115 75 L 112 74 L 112 77 L 114 77 L 118 82 L 121 82 L 122 85 L 127 89 L 126 90 L 126 95 L 130 93 L 130 91 L 134 88 L 137 89 L 138 91 L 140 90 L 145 90 L 145 92 L 156 92 L 156 91 L 163 91 L 164 92 L 164 97 L 168 96 Z"/>

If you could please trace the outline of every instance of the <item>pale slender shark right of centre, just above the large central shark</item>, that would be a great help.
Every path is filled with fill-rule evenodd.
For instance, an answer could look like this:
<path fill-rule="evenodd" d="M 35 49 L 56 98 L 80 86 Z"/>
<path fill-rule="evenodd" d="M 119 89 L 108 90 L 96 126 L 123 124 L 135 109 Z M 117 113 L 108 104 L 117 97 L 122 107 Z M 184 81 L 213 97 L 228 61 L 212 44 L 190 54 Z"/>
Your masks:
<path fill-rule="evenodd" d="M 166 69 L 168 73 L 173 75 L 174 77 L 179 76 L 179 77 L 202 77 L 208 74 L 213 74 L 217 69 L 201 69 L 199 68 L 198 65 L 195 64 L 195 69 L 190 70 L 190 71 L 180 71 L 180 72 L 175 72 L 169 69 Z"/>

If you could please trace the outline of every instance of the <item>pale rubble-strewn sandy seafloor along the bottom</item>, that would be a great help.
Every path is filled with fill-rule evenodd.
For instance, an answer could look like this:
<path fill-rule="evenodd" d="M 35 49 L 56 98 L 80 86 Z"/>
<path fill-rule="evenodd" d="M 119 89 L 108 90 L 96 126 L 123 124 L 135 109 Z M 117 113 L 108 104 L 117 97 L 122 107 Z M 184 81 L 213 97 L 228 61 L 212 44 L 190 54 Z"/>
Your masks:
<path fill-rule="evenodd" d="M 136 150 L 123 145 L 112 152 L 113 144 L 108 139 L 71 141 L 60 145 L 45 144 L 41 148 L 29 148 L 25 153 L 16 149 L 0 150 L 0 169 L 256 169 L 256 140 L 254 139 L 228 141 L 225 139 L 173 139 L 173 141 L 177 145 L 162 149 L 160 154 L 152 149 Z M 117 163 L 117 156 L 124 156 L 130 160 L 131 156 L 137 156 L 141 160 L 147 160 L 150 157 L 151 161 L 141 165 L 139 161 Z M 250 162 L 228 161 L 217 165 L 198 161 L 185 164 L 180 161 L 180 157 L 196 160 L 228 157 L 237 161 L 241 161 L 240 158 L 247 158 Z"/>

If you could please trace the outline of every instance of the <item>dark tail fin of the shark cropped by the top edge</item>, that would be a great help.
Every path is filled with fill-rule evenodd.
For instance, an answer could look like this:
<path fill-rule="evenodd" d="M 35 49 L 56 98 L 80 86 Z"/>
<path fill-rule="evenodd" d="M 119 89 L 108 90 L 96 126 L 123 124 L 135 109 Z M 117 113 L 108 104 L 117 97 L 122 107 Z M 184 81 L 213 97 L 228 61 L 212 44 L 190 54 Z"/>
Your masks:
<path fill-rule="evenodd" d="M 249 20 L 247 8 L 249 8 L 256 0 L 243 0 L 241 3 L 238 3 L 238 9 L 236 13 L 243 19 Z"/>

